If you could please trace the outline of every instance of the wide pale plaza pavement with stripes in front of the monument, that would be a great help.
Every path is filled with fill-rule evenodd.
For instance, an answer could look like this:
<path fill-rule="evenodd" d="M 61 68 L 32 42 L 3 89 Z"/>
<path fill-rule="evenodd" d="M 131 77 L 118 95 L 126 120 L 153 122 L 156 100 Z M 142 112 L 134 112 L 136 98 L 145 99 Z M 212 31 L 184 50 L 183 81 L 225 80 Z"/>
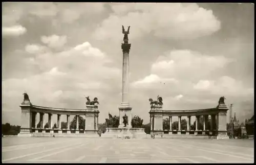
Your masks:
<path fill-rule="evenodd" d="M 2 162 L 253 163 L 253 139 L 3 137 Z"/>

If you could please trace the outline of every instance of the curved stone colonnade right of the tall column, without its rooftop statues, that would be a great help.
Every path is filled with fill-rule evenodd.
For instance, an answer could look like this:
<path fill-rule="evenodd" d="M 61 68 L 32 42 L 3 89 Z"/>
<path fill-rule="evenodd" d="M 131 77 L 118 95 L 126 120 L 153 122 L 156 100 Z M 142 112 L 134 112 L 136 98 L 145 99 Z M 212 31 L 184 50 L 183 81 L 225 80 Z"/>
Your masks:
<path fill-rule="evenodd" d="M 197 110 L 163 110 L 162 107 L 152 106 L 150 113 L 151 133 L 163 134 L 163 116 L 169 116 L 169 133 L 168 134 L 208 134 L 226 136 L 226 112 L 228 108 L 225 105 L 217 106 L 210 109 Z M 207 125 L 209 120 L 211 122 Z M 178 129 L 173 130 L 173 116 L 178 116 Z M 186 129 L 181 128 L 181 118 L 186 116 Z M 191 129 L 191 116 L 196 116 L 195 130 Z M 203 116 L 203 129 L 199 130 L 200 117 Z"/>

